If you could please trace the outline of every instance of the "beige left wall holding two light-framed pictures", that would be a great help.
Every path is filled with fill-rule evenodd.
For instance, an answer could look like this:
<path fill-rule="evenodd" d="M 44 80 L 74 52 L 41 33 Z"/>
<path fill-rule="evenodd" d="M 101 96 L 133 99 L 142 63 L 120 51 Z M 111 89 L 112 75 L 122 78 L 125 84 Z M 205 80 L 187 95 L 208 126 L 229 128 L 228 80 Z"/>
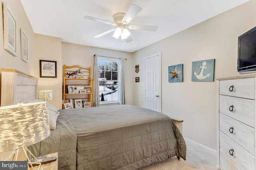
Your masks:
<path fill-rule="evenodd" d="M 17 55 L 14 57 L 11 53 L 4 49 L 4 37 L 3 37 L 3 12 L 0 8 L 0 68 L 17 69 L 26 74 L 35 75 L 35 48 L 34 48 L 34 32 L 30 25 L 30 22 L 26 16 L 26 12 L 20 2 L 20 0 L 5 0 L 12 11 L 12 14 L 16 18 L 16 35 L 17 35 Z M 0 1 L 2 4 L 2 1 Z M 21 60 L 21 47 L 20 47 L 20 28 L 28 36 L 28 58 L 29 62 L 26 63 Z"/>

